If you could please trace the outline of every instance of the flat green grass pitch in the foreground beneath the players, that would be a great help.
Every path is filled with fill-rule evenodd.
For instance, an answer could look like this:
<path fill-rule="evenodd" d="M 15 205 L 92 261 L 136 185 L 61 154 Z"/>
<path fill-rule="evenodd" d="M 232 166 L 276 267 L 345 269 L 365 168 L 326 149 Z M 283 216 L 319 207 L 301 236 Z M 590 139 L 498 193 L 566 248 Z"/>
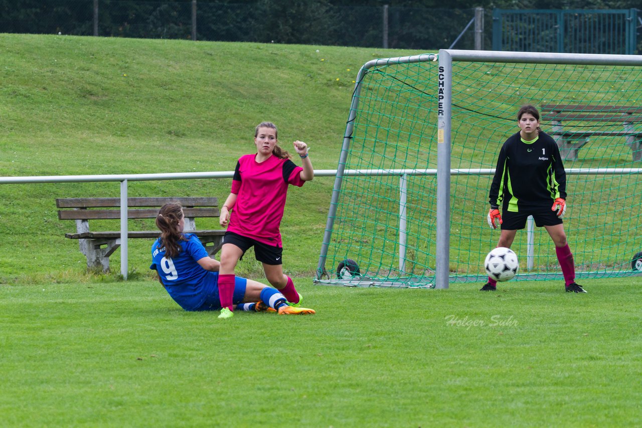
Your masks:
<path fill-rule="evenodd" d="M 642 424 L 639 281 L 299 283 L 316 315 L 229 321 L 152 281 L 0 287 L 0 425 Z"/>

